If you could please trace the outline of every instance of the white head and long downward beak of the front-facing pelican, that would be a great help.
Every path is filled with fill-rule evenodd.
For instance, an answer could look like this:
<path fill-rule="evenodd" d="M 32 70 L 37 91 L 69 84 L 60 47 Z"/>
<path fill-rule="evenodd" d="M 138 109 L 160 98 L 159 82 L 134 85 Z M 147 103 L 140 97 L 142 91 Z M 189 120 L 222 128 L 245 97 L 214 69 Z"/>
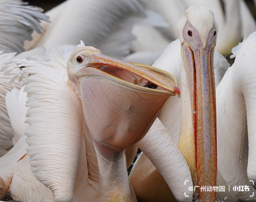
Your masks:
<path fill-rule="evenodd" d="M 185 92 L 188 92 L 187 97 L 190 98 L 190 131 L 194 141 L 194 145 L 190 145 L 194 148 L 194 154 L 184 155 L 188 151 L 184 149 L 183 155 L 187 156 L 187 162 L 194 163 L 194 168 L 191 166 L 190 171 L 194 184 L 199 187 L 216 186 L 216 98 L 213 55 L 217 32 L 218 27 L 212 11 L 198 3 L 190 5 L 178 23 L 183 64 L 181 72 L 183 71 L 185 77 L 182 78 L 186 83 Z M 183 140 L 179 139 L 180 145 L 182 142 Z M 182 146 L 186 147 L 185 144 Z M 201 192 L 199 188 L 198 194 L 201 201 L 215 201 L 215 192 Z"/>

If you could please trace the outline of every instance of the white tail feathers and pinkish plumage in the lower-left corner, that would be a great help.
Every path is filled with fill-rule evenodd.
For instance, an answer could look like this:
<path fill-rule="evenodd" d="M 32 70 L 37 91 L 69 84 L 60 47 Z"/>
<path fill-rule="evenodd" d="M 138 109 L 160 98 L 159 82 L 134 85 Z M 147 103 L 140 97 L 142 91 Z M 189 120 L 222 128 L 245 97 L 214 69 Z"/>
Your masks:
<path fill-rule="evenodd" d="M 14 129 L 13 142 L 14 147 L 3 157 L 0 158 L 1 177 L 4 183 L 0 184 L 0 198 L 10 191 L 12 197 L 21 201 L 52 201 L 54 197 L 49 188 L 46 188 L 40 181 L 36 180 L 31 172 L 29 156 L 26 154 L 27 143 L 24 135 L 28 127 L 24 123 L 26 119 L 27 93 L 23 92 L 24 87 L 20 90 L 14 88 L 6 94 L 6 105 L 11 125 Z M 23 120 L 23 121 L 22 121 Z"/>

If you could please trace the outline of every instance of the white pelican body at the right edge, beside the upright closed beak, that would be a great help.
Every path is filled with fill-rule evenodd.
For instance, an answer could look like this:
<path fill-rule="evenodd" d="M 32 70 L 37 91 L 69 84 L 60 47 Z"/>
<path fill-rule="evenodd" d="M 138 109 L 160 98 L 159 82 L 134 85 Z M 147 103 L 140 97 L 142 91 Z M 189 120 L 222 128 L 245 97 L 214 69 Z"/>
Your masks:
<path fill-rule="evenodd" d="M 245 39 L 216 88 L 218 170 L 227 185 L 247 185 L 250 191 L 219 193 L 227 201 L 255 199 L 256 32 Z M 248 150 L 249 146 L 249 150 Z M 248 160 L 248 161 L 247 161 Z"/>

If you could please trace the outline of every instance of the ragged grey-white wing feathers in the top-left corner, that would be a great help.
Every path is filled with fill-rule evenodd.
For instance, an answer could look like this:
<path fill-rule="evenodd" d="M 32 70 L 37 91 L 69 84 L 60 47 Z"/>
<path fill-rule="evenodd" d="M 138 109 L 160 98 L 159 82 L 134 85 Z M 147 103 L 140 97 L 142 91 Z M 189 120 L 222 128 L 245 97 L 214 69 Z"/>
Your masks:
<path fill-rule="evenodd" d="M 23 42 L 32 40 L 33 30 L 42 33 L 40 20 L 49 22 L 43 9 L 15 0 L 0 1 L 0 50 L 6 53 L 24 51 Z"/>

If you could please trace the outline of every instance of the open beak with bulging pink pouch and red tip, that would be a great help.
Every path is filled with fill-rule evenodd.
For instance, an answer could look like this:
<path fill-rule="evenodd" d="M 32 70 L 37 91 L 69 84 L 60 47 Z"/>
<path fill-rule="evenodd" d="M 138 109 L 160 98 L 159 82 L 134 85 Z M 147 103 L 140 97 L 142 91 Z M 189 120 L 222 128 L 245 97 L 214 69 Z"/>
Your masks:
<path fill-rule="evenodd" d="M 89 57 L 89 65 L 78 70 L 77 76 L 89 132 L 109 161 L 116 161 L 121 151 L 139 141 L 165 101 L 180 93 L 169 73 L 100 52 Z"/>

